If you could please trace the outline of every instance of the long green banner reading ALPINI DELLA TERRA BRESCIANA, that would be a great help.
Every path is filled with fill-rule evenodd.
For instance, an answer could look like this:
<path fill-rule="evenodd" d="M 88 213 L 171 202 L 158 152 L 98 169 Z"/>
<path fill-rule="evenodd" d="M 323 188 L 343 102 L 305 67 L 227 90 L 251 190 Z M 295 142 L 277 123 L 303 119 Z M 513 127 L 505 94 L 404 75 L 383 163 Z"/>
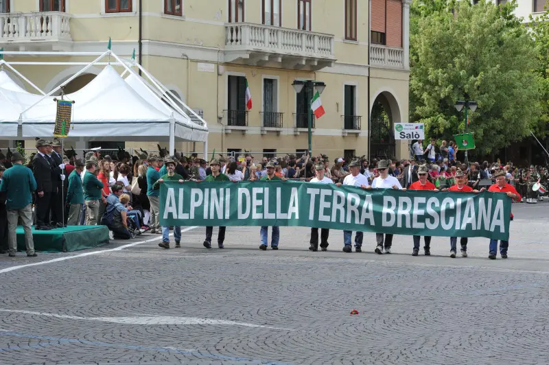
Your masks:
<path fill-rule="evenodd" d="M 363 190 L 257 181 L 165 182 L 163 226 L 304 226 L 446 237 L 509 239 L 511 198 L 504 193 Z"/>

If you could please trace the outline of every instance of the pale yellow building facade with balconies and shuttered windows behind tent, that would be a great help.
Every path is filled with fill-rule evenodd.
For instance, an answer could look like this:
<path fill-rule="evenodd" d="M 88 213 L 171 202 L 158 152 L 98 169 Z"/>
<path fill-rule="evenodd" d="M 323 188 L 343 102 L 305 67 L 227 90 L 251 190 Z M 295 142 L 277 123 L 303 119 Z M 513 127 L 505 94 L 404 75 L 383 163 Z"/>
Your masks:
<path fill-rule="evenodd" d="M 55 51 L 59 55 L 48 59 L 83 62 L 93 57 L 62 52 L 104 51 L 112 38 L 116 54 L 129 58 L 135 50 L 145 69 L 203 114 L 209 152 L 307 150 L 308 100 L 314 92 L 305 87 L 298 94 L 292 84 L 323 82 L 326 114 L 313 122 L 313 154 L 403 158 L 408 143 L 395 141 L 392 130 L 393 123 L 408 121 L 411 0 L 387 1 L 0 0 L 0 47 Z M 14 67 L 49 92 L 83 66 Z M 80 89 L 101 68 L 87 70 L 66 92 Z M 89 148 L 88 142 L 75 141 L 76 148 Z M 125 147 L 155 150 L 156 142 Z M 178 143 L 176 150 L 202 152 L 202 146 Z"/>

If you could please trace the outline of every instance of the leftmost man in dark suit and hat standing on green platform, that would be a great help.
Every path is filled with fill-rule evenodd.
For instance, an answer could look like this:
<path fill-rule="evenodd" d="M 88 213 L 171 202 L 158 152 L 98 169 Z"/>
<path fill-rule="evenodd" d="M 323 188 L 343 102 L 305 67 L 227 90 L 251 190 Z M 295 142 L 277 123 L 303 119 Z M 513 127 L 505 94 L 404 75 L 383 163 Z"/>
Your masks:
<path fill-rule="evenodd" d="M 49 214 L 51 211 L 51 193 L 57 191 L 51 177 L 54 174 L 55 163 L 49 156 L 48 141 L 38 139 L 36 150 L 38 153 L 32 160 L 32 172 L 36 180 L 36 229 L 49 229 Z M 54 190 L 55 189 L 55 190 Z"/>

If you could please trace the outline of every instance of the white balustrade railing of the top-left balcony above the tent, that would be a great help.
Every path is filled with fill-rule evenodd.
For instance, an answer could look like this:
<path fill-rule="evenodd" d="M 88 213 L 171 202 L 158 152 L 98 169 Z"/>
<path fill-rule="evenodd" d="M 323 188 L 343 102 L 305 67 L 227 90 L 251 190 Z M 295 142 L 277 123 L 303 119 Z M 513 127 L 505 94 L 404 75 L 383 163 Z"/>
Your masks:
<path fill-rule="evenodd" d="M 71 40 L 70 14 L 32 12 L 0 14 L 0 43 Z"/>

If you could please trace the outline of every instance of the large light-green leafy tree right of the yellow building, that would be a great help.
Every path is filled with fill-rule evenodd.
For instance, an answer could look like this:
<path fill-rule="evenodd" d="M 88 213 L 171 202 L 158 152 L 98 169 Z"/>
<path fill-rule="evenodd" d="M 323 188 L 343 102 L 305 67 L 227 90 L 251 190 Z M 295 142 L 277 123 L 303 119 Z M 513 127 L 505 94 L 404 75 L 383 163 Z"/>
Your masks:
<path fill-rule="evenodd" d="M 475 100 L 469 113 L 478 152 L 519 141 L 539 119 L 541 80 L 534 43 L 515 3 L 416 0 L 410 23 L 410 120 L 432 137 L 465 130 L 456 100 Z"/>

